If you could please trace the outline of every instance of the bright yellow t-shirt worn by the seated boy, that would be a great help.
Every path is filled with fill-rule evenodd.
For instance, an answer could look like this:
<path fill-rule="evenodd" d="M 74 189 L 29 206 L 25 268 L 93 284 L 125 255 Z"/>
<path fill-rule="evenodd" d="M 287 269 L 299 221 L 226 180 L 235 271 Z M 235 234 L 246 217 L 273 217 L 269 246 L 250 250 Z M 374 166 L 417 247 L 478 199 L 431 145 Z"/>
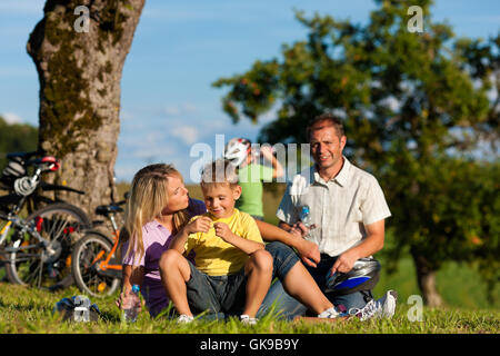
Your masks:
<path fill-rule="evenodd" d="M 216 235 L 213 222 L 224 222 L 229 226 L 234 235 L 242 238 L 263 244 L 256 220 L 238 209 L 229 218 L 218 219 L 211 214 L 204 214 L 212 219 L 210 230 L 208 233 L 191 234 L 186 241 L 186 256 L 194 251 L 194 266 L 198 270 L 209 276 L 226 276 L 239 271 L 248 260 L 248 255 L 238 247 L 226 243 Z M 191 219 L 196 220 L 200 216 Z"/>

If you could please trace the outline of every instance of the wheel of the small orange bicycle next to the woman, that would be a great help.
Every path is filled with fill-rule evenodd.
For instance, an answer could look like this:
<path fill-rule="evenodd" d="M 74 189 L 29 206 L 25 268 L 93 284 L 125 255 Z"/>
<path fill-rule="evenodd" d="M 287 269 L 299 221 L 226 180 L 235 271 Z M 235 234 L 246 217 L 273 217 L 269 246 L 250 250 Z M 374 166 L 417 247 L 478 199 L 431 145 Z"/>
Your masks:
<path fill-rule="evenodd" d="M 120 278 L 99 273 L 113 245 L 98 231 L 88 231 L 74 246 L 71 255 L 74 283 L 82 293 L 93 297 L 112 295 L 120 285 Z"/>

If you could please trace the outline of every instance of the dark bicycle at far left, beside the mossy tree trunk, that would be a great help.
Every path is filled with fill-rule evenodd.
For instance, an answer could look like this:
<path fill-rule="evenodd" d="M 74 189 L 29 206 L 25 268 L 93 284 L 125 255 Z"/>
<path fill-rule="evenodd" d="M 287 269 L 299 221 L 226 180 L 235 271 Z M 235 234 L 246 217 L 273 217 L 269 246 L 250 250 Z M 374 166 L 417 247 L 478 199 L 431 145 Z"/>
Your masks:
<path fill-rule="evenodd" d="M 0 258 L 9 281 L 38 288 L 67 287 L 72 284 L 71 246 L 91 226 L 87 214 L 64 201 L 52 200 L 36 192 L 44 190 L 69 190 L 83 194 L 66 186 L 40 181 L 43 172 L 59 169 L 59 161 L 51 156 L 30 159 L 37 152 L 9 154 L 10 159 L 0 177 L 2 188 L 8 189 L 0 197 Z M 34 169 L 32 175 L 28 171 Z M 20 217 L 28 202 L 48 204 Z"/>

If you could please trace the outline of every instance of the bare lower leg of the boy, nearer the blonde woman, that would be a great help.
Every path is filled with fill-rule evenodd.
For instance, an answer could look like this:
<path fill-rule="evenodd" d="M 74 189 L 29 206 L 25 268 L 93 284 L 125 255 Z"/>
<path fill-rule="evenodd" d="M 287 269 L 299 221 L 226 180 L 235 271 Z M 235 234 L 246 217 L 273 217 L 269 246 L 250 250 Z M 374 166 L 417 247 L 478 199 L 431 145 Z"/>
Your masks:
<path fill-rule="evenodd" d="M 188 260 L 177 250 L 169 249 L 161 255 L 159 267 L 161 283 L 177 313 L 192 316 L 186 287 L 186 283 L 191 278 Z"/>

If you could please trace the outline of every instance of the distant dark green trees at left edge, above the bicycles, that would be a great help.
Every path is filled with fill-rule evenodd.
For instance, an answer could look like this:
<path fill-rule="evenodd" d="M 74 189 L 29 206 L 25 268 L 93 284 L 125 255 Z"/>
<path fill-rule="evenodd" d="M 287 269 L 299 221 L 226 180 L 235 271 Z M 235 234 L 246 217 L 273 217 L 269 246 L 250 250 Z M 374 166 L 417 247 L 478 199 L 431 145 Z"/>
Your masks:
<path fill-rule="evenodd" d="M 16 151 L 34 151 L 38 129 L 28 123 L 8 123 L 0 116 L 0 171 L 7 164 L 6 155 Z"/>

